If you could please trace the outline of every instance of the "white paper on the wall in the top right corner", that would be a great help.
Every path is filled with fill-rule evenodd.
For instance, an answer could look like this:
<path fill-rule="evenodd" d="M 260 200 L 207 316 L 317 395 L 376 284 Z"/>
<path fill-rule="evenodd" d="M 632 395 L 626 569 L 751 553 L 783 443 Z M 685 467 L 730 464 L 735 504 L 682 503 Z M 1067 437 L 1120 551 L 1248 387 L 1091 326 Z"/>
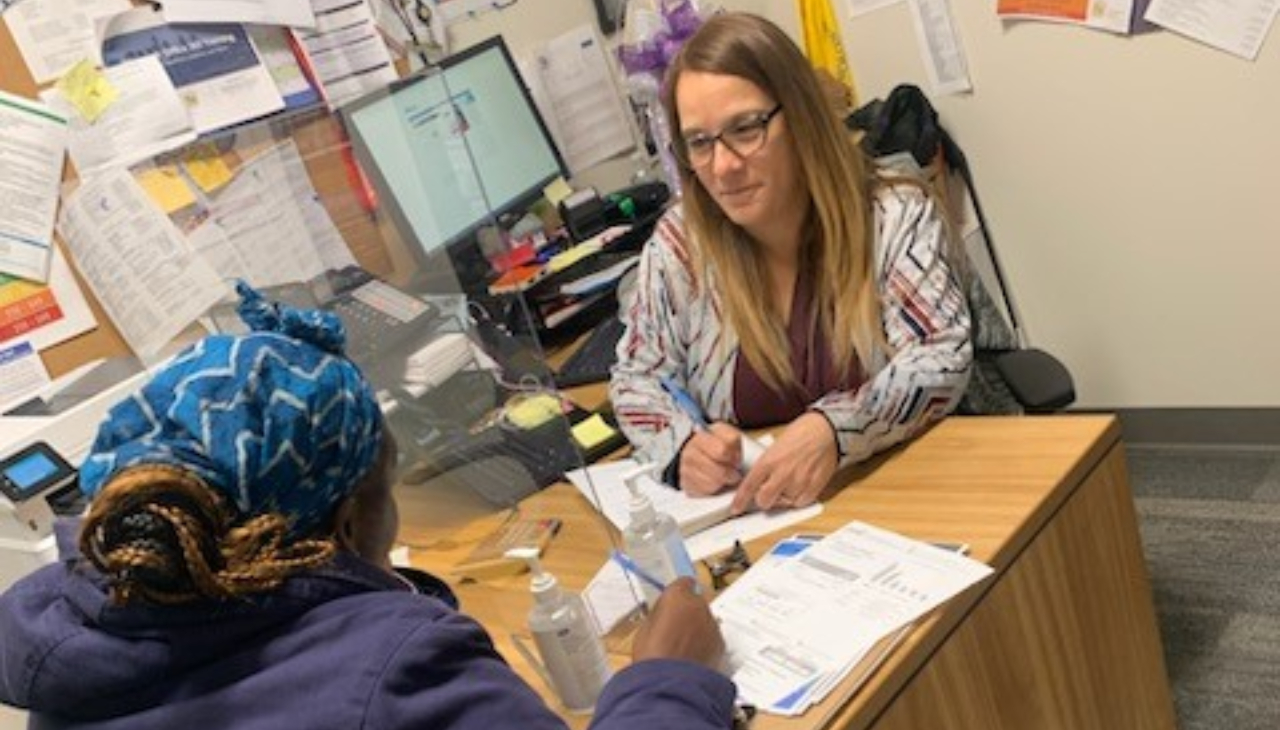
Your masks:
<path fill-rule="evenodd" d="M 1280 0 L 1151 0 L 1147 20 L 1253 60 L 1275 22 Z"/>

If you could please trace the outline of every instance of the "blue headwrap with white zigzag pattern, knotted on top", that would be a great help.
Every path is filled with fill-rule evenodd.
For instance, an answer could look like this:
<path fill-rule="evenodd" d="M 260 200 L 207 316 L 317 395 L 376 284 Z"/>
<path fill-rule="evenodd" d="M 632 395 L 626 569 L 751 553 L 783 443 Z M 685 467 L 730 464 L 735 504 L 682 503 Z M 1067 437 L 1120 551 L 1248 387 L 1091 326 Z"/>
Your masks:
<path fill-rule="evenodd" d="M 242 515 L 283 514 L 302 535 L 369 471 L 383 420 L 369 383 L 342 356 L 342 321 L 237 288 L 253 332 L 197 342 L 116 403 L 81 467 L 87 496 L 129 466 L 169 464 L 200 475 Z"/>

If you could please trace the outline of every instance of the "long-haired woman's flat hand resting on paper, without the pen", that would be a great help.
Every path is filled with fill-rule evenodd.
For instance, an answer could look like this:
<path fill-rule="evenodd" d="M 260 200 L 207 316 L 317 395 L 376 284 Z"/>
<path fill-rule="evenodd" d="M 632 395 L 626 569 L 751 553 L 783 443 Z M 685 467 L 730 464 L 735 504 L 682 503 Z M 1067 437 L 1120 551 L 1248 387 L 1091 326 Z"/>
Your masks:
<path fill-rule="evenodd" d="M 838 465 L 836 435 L 822 414 L 806 412 L 778 434 L 742 478 L 733 496 L 735 515 L 750 510 L 806 507 L 831 482 Z"/>

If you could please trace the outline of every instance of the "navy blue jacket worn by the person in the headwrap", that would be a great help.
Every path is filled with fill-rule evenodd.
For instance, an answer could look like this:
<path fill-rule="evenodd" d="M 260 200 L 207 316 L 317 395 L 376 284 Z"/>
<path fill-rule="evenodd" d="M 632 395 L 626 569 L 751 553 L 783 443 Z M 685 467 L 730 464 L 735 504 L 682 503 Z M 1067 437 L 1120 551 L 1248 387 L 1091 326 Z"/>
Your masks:
<path fill-rule="evenodd" d="M 46 566 L 0 597 L 0 701 L 40 729 L 564 726 L 479 624 L 351 555 L 261 599 L 163 608 Z M 593 726 L 727 727 L 732 702 L 712 670 L 644 661 Z"/>

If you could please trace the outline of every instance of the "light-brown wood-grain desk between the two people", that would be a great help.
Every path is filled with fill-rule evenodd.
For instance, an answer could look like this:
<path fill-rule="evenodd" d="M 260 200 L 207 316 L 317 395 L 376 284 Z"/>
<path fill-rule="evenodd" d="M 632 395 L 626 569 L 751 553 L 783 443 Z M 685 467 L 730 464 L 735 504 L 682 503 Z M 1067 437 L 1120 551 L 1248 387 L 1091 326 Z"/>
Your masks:
<path fill-rule="evenodd" d="M 756 717 L 754 727 L 1176 726 L 1112 418 L 952 418 L 850 474 L 826 505 L 799 529 L 831 531 L 856 519 L 965 542 L 996 574 L 924 620 L 852 698 L 837 689 L 804 717 Z M 461 529 L 429 526 L 424 517 L 436 508 L 421 499 L 403 507 L 404 539 L 440 548 L 413 553 L 430 570 L 497 524 L 489 516 Z M 570 588 L 585 585 L 609 535 L 586 502 L 556 485 L 522 510 L 566 520 L 545 562 Z M 458 594 L 545 694 L 507 638 L 522 630 L 527 578 L 462 585 Z"/>

